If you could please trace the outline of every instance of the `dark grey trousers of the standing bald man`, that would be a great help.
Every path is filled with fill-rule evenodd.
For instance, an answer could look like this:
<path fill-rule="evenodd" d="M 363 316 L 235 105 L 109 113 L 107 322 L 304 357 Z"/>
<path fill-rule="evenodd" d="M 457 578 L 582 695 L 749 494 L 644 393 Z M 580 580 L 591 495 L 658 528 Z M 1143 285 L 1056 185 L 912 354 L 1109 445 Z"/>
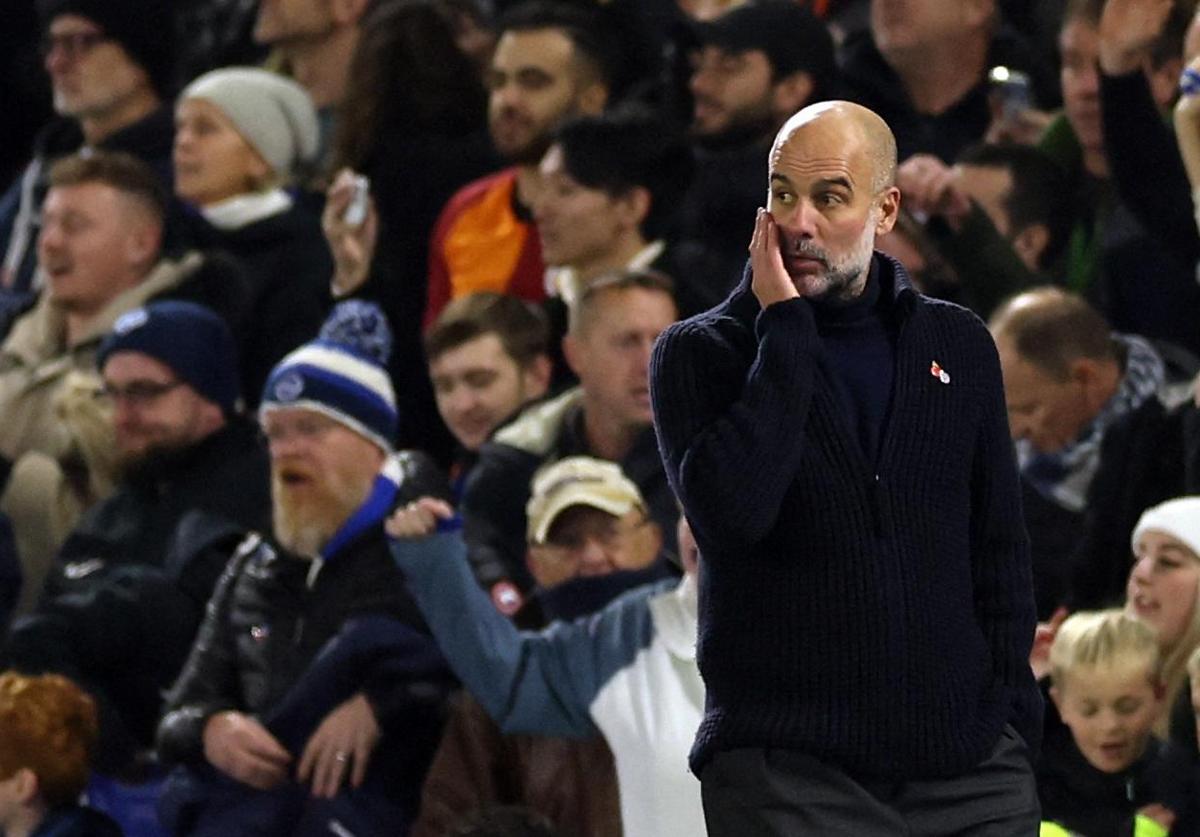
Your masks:
<path fill-rule="evenodd" d="M 974 770 L 950 779 L 866 782 L 784 749 L 718 753 L 701 773 L 709 837 L 1033 837 L 1040 807 L 1012 727 Z"/>

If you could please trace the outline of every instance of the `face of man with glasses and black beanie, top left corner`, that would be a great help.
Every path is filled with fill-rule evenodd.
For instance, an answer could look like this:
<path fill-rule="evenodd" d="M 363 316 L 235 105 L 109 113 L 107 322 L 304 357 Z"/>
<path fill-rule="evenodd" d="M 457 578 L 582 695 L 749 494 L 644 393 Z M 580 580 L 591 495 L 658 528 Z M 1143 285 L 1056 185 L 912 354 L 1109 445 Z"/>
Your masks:
<path fill-rule="evenodd" d="M 54 110 L 72 119 L 103 116 L 149 88 L 145 71 L 88 18 L 60 14 L 47 31 L 46 72 Z"/>

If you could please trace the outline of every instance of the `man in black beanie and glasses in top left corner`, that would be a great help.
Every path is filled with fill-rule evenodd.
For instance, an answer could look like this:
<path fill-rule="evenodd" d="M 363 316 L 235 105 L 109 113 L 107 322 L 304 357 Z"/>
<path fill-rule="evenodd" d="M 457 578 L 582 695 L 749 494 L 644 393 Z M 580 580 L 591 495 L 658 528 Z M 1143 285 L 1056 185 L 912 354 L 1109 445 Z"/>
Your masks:
<path fill-rule="evenodd" d="M 58 119 L 35 158 L 0 198 L 0 303 L 41 289 L 40 212 L 55 159 L 83 149 L 125 151 L 170 177 L 174 118 L 163 104 L 173 71 L 172 4 L 162 0 L 40 0 L 42 56 Z M 169 188 L 168 188 L 169 192 Z"/>

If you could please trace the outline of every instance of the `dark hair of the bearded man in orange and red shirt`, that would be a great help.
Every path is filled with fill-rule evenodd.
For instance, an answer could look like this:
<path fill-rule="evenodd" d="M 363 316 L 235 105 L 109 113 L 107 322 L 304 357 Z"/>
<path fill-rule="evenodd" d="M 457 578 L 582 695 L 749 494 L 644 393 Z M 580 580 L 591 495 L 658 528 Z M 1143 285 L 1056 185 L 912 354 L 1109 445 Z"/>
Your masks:
<path fill-rule="evenodd" d="M 622 48 L 613 26 L 598 10 L 571 2 L 527 0 L 500 16 L 497 35 L 557 29 L 571 41 L 576 58 L 611 95 L 624 88 Z"/>

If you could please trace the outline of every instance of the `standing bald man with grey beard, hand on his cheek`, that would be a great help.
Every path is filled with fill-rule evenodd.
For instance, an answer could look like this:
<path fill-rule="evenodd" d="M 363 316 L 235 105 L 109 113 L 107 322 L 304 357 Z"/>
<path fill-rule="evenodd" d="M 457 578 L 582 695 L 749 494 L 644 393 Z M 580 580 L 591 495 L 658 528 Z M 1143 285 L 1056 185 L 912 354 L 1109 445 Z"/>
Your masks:
<path fill-rule="evenodd" d="M 750 260 L 652 363 L 701 566 L 710 835 L 1036 835 L 1042 699 L 996 348 L 874 251 L 900 206 L 870 110 L 808 107 Z"/>

